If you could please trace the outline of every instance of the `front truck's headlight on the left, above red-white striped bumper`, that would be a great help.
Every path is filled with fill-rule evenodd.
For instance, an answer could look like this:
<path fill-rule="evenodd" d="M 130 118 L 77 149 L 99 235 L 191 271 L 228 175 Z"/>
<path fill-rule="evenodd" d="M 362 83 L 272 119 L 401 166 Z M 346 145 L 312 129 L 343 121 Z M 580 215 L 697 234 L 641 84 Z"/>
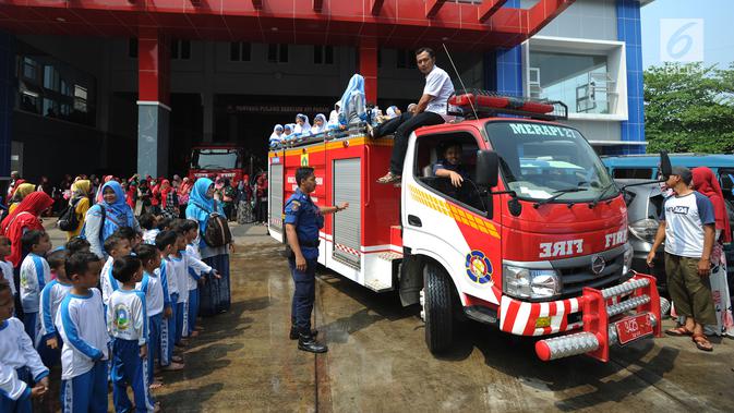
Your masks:
<path fill-rule="evenodd" d="M 502 291 L 517 299 L 550 299 L 561 295 L 561 277 L 553 269 L 529 269 L 505 265 Z"/>

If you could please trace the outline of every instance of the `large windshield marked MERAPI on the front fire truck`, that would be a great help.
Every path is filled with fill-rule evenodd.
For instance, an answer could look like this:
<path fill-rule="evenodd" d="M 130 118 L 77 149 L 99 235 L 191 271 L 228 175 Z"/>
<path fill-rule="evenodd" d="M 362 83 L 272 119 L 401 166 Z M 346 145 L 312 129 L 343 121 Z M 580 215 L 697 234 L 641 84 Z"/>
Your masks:
<path fill-rule="evenodd" d="M 494 121 L 485 127 L 505 184 L 518 197 L 542 201 L 564 192 L 553 202 L 578 203 L 591 202 L 602 191 L 603 198 L 618 194 L 607 187 L 612 178 L 577 130 L 522 121 Z"/>

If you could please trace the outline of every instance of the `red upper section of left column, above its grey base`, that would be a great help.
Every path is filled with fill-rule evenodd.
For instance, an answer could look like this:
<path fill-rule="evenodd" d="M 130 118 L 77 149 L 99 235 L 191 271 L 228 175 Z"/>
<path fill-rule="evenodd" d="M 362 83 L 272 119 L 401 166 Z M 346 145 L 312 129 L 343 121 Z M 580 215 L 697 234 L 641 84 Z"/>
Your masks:
<path fill-rule="evenodd" d="M 157 28 L 141 27 L 137 38 L 139 100 L 170 102 L 170 45 Z"/>

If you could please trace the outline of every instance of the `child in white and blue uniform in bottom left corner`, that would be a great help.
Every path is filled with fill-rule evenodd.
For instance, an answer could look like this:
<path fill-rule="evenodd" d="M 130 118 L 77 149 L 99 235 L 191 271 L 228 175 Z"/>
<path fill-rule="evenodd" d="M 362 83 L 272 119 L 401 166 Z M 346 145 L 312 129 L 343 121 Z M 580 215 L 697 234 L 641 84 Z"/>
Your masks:
<path fill-rule="evenodd" d="M 13 317 L 10 286 L 0 280 L 0 412 L 26 413 L 32 397 L 48 389 L 48 368 L 33 348 L 23 323 Z M 29 378 L 37 385 L 31 387 Z"/>

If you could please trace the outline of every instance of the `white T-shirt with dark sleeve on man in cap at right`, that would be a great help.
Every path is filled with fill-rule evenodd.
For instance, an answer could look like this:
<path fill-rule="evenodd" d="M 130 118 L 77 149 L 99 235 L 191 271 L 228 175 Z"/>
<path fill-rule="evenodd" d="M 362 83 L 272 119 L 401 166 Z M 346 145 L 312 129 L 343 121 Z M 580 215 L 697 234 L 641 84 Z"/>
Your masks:
<path fill-rule="evenodd" d="M 696 191 L 665 199 L 660 220 L 666 222 L 665 252 L 688 258 L 703 255 L 703 226 L 717 221 L 711 201 Z"/>

